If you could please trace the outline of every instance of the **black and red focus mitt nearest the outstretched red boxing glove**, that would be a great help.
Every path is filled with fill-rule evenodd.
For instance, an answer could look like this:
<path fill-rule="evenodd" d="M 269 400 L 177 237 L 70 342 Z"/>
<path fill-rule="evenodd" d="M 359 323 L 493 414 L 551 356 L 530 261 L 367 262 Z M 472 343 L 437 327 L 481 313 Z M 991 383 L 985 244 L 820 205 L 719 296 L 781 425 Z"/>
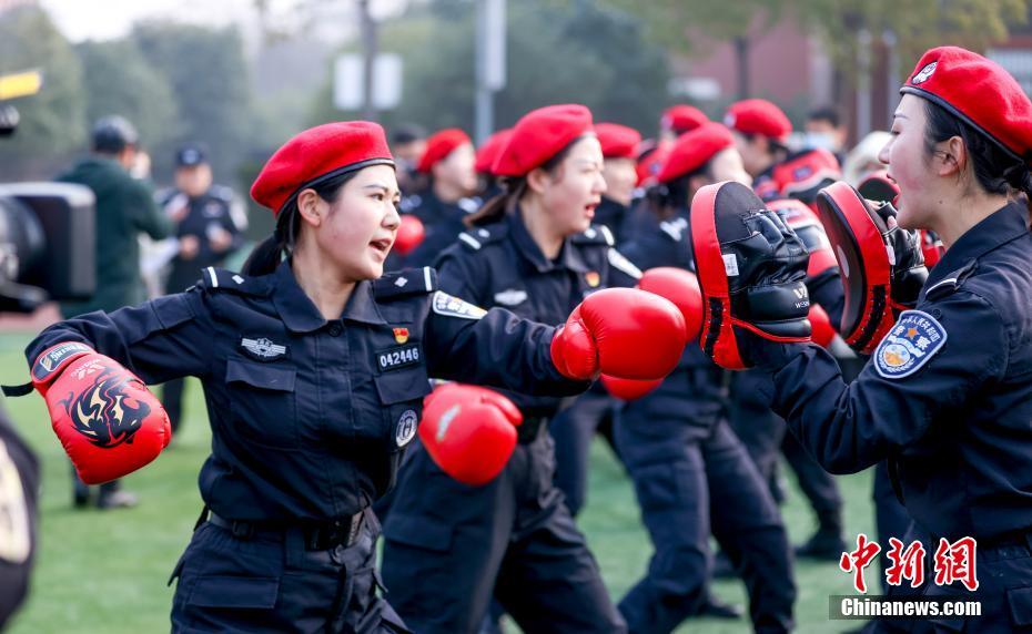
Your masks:
<path fill-rule="evenodd" d="M 691 202 L 691 239 L 702 292 L 700 344 L 717 365 L 755 365 L 745 331 L 779 342 L 810 340 L 799 237 L 746 185 L 717 183 Z"/>

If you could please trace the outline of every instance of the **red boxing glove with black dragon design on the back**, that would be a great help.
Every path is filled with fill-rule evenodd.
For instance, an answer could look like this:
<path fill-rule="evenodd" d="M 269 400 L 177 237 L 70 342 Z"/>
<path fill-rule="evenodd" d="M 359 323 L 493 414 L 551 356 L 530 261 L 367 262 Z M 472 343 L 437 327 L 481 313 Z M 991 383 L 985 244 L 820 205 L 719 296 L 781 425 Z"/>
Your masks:
<path fill-rule="evenodd" d="M 65 341 L 32 365 L 53 431 L 87 484 L 132 473 L 172 437 L 164 407 L 135 375 L 85 344 Z"/>

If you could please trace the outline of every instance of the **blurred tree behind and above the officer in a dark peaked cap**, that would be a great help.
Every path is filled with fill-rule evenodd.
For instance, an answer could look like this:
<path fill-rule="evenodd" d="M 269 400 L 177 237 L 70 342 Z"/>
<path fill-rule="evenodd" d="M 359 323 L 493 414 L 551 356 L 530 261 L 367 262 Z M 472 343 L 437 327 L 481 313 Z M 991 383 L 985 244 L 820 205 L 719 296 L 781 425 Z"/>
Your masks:
<path fill-rule="evenodd" d="M 216 181 L 236 185 L 231 181 L 247 154 L 254 121 L 240 33 L 145 22 L 133 29 L 130 40 L 151 71 L 168 78 L 179 115 L 174 134 L 153 147 L 155 175 L 170 175 L 178 144 L 201 141 L 210 149 Z"/>

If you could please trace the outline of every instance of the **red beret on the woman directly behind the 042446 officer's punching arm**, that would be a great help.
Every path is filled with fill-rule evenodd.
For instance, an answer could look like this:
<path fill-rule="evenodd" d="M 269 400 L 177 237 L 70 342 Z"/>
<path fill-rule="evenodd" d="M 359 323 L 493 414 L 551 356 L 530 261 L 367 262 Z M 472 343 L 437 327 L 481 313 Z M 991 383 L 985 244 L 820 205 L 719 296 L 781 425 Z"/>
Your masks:
<path fill-rule="evenodd" d="M 587 132 L 591 132 L 591 111 L 584 105 L 532 110 L 516 122 L 492 171 L 496 176 L 526 176 Z"/>

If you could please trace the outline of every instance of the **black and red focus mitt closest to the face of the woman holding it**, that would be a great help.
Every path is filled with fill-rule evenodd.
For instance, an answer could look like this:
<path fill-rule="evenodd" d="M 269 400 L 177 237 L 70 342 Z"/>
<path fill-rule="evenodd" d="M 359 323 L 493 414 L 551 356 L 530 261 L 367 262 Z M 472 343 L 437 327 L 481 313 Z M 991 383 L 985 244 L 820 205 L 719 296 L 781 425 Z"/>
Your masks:
<path fill-rule="evenodd" d="M 896 226 L 891 203 L 872 205 L 843 182 L 821 190 L 817 208 L 846 290 L 839 334 L 870 355 L 928 278 L 920 236 Z"/>

